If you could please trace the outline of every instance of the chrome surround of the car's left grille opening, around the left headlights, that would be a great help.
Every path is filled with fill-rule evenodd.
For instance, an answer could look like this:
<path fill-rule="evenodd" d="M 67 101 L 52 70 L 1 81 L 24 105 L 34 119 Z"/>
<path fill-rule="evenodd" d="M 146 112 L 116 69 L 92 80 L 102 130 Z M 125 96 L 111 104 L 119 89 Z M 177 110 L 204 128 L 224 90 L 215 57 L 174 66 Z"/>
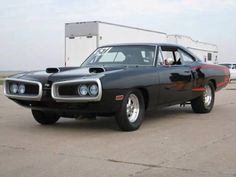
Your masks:
<path fill-rule="evenodd" d="M 9 81 L 12 82 L 23 82 L 23 83 L 30 83 L 30 84 L 37 84 L 39 86 L 39 92 L 37 95 L 20 95 L 20 94 L 11 94 L 9 92 Z M 32 101 L 40 101 L 43 95 L 43 89 L 42 89 L 42 84 L 37 81 L 29 81 L 29 80 L 24 80 L 24 79 L 11 79 L 11 78 L 6 78 L 4 80 L 4 95 L 13 98 L 13 99 L 18 99 L 18 100 L 32 100 Z"/>

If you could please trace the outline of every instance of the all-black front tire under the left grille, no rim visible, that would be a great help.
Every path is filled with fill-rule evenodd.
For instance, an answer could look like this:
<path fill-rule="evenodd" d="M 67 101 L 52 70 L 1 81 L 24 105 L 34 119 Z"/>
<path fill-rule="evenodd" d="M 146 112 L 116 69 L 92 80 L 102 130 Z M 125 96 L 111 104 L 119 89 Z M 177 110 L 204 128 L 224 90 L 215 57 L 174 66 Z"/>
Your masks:
<path fill-rule="evenodd" d="M 60 116 L 58 114 L 52 112 L 32 110 L 32 114 L 34 116 L 34 119 L 42 125 L 52 125 L 60 119 Z"/>

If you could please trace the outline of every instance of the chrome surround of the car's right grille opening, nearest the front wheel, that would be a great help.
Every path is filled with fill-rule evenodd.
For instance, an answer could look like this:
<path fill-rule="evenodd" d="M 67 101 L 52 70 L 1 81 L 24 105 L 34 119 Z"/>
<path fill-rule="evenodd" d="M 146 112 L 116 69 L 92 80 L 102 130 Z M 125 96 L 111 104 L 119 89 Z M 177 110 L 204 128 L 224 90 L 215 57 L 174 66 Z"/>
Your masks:
<path fill-rule="evenodd" d="M 98 95 L 93 97 L 93 96 L 88 96 L 88 97 L 82 97 L 79 96 L 60 96 L 58 92 L 58 88 L 61 85 L 69 85 L 69 84 L 74 84 L 78 83 L 88 83 L 88 82 L 96 82 L 98 84 Z M 82 78 L 82 79 L 76 79 L 76 80 L 69 80 L 69 81 L 61 81 L 61 82 L 55 82 L 52 84 L 52 91 L 51 91 L 52 98 L 56 100 L 57 102 L 89 102 L 89 101 L 100 101 L 102 98 L 102 84 L 100 79 L 98 78 Z"/>

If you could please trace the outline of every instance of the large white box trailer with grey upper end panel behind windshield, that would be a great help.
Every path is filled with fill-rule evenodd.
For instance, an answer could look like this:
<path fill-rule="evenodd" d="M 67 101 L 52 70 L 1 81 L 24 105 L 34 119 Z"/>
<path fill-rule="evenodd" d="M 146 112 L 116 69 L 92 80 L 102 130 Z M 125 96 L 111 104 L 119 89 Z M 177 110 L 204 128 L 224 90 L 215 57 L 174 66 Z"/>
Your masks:
<path fill-rule="evenodd" d="M 91 21 L 65 24 L 65 65 L 79 66 L 97 47 L 119 43 L 166 42 L 167 34 Z"/>

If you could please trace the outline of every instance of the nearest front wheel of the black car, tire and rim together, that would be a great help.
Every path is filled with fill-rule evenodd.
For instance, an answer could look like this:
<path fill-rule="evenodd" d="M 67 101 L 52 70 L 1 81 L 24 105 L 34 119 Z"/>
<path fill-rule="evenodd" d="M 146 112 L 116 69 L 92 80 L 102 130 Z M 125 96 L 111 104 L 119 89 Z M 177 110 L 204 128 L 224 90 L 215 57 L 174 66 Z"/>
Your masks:
<path fill-rule="evenodd" d="M 141 126 L 144 112 L 142 93 L 136 89 L 131 90 L 125 95 L 121 110 L 116 114 L 116 121 L 121 130 L 133 131 Z"/>

